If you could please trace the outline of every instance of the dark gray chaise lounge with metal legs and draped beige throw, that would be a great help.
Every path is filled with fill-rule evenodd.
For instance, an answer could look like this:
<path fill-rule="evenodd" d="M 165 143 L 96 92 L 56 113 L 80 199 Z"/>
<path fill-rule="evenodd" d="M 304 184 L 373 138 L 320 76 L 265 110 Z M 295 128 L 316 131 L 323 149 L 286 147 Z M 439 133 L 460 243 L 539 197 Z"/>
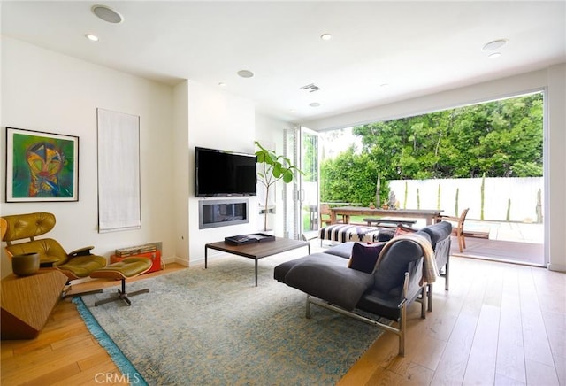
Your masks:
<path fill-rule="evenodd" d="M 434 269 L 440 271 L 446 266 L 448 272 L 451 230 L 450 223 L 443 221 L 414 234 L 395 237 L 386 242 L 388 245 L 372 272 L 348 267 L 353 248 L 362 247 L 342 243 L 325 252 L 276 266 L 274 278 L 307 294 L 307 318 L 310 304 L 314 304 L 391 331 L 399 336 L 399 355 L 403 356 L 407 307 L 414 301 L 420 302 L 422 318 L 426 317 L 427 303 L 429 311 L 432 310 L 434 279 L 423 282 L 424 267 L 431 267 L 430 256 L 436 250 L 436 257 L 432 254 L 437 263 Z M 375 315 L 375 319 L 367 313 Z M 381 322 L 379 317 L 394 323 Z"/>

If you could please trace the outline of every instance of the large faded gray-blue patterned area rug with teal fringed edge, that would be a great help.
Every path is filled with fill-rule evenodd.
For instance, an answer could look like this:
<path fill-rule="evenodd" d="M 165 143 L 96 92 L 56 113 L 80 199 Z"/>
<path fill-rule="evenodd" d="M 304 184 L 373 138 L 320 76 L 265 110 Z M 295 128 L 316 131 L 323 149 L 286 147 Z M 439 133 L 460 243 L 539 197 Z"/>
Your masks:
<path fill-rule="evenodd" d="M 279 262 L 259 261 L 258 287 L 253 260 L 221 259 L 208 269 L 127 283 L 128 291 L 150 289 L 132 297 L 131 306 L 94 306 L 116 288 L 76 303 L 88 324 L 98 322 L 102 330 L 91 329 L 93 335 L 134 381 L 335 384 L 381 331 L 314 305 L 306 319 L 306 296 L 273 279 Z M 88 321 L 90 314 L 96 320 Z"/>

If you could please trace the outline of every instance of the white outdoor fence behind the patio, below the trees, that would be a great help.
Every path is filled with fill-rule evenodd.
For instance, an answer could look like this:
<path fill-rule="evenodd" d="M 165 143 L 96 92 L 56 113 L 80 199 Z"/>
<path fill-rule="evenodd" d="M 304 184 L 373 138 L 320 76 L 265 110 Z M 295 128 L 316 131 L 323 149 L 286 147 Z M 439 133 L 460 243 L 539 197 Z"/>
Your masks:
<path fill-rule="evenodd" d="M 394 180 L 389 189 L 400 208 L 442 209 L 450 216 L 470 208 L 470 220 L 542 222 L 543 177 Z"/>

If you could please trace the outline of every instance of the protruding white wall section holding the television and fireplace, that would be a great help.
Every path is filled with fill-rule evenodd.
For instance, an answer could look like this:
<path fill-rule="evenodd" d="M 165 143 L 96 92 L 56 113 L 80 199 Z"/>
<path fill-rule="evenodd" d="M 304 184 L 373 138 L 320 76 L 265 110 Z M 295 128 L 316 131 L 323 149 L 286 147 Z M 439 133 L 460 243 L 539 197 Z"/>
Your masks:
<path fill-rule="evenodd" d="M 283 148 L 283 130 L 287 122 L 257 114 L 248 99 L 222 89 L 213 89 L 195 81 L 185 81 L 174 89 L 175 98 L 175 215 L 177 216 L 176 251 L 180 264 L 192 265 L 204 259 L 204 245 L 228 235 L 249 234 L 262 227 L 257 215 L 257 197 L 249 200 L 249 223 L 199 229 L 199 200 L 240 200 L 241 197 L 195 197 L 195 146 L 253 153 L 254 139 Z M 184 112 L 187 112 L 184 115 Z M 281 203 L 282 205 L 282 203 Z M 279 216 L 276 235 L 282 229 Z M 220 253 L 209 251 L 214 259 Z"/>

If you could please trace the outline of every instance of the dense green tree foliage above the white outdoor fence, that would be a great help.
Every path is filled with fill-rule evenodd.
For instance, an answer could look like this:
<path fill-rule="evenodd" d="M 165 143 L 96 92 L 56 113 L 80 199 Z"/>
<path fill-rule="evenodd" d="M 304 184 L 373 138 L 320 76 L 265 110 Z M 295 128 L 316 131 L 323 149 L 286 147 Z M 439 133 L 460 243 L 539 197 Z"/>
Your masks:
<path fill-rule="evenodd" d="M 542 120 L 537 93 L 354 127 L 362 149 L 321 163 L 322 200 L 374 202 L 378 174 L 382 184 L 541 176 Z"/>

